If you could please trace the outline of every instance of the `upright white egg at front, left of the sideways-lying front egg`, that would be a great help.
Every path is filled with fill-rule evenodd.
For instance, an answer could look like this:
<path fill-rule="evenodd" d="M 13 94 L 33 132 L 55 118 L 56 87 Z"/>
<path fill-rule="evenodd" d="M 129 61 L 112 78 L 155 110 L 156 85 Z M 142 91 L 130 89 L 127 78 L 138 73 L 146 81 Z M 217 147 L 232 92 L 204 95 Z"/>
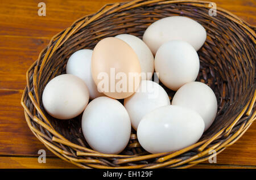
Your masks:
<path fill-rule="evenodd" d="M 82 114 L 82 132 L 95 151 L 118 154 L 130 139 L 129 114 L 121 102 L 113 98 L 95 98 Z"/>

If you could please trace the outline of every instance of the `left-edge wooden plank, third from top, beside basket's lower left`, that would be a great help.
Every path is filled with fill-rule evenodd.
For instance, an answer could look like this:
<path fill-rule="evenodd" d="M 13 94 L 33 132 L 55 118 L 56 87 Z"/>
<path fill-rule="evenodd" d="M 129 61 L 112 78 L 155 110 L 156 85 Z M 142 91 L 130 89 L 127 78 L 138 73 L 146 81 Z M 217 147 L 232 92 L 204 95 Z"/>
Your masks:
<path fill-rule="evenodd" d="M 22 91 L 0 90 L 0 155 L 35 155 L 45 149 L 53 154 L 32 134 L 20 105 Z"/>

